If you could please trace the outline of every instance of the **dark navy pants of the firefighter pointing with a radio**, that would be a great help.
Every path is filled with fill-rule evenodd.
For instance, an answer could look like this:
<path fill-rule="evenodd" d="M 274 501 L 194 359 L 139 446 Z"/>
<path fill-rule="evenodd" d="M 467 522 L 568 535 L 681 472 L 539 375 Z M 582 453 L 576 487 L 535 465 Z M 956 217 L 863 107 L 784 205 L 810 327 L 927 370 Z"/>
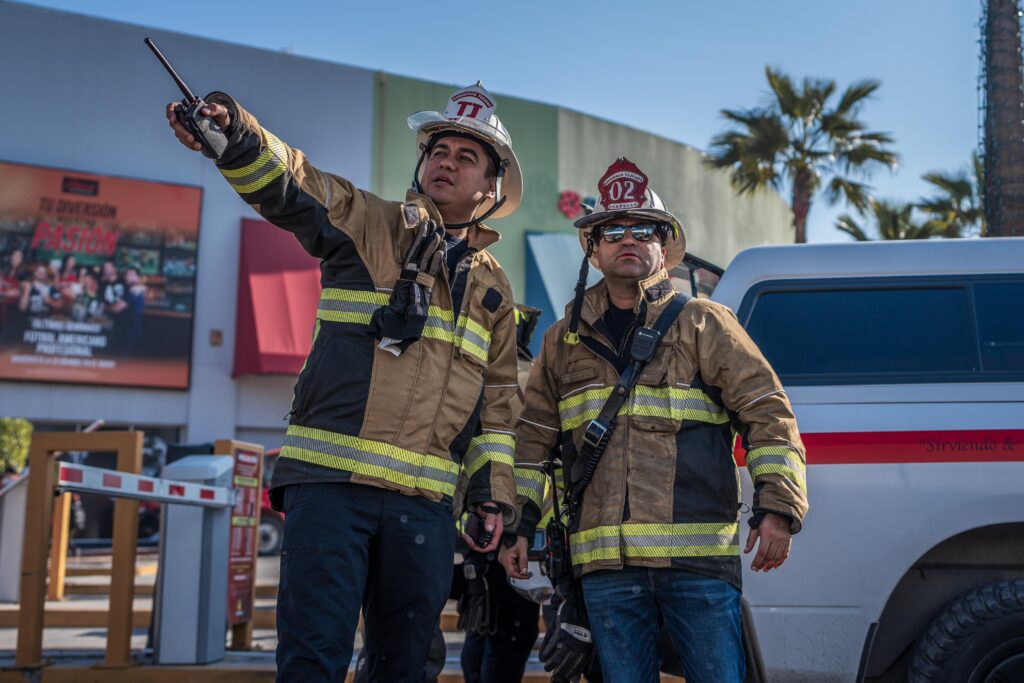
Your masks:
<path fill-rule="evenodd" d="M 362 607 L 369 680 L 420 683 L 452 585 L 452 509 L 354 483 L 285 487 L 278 681 L 342 683 Z"/>

